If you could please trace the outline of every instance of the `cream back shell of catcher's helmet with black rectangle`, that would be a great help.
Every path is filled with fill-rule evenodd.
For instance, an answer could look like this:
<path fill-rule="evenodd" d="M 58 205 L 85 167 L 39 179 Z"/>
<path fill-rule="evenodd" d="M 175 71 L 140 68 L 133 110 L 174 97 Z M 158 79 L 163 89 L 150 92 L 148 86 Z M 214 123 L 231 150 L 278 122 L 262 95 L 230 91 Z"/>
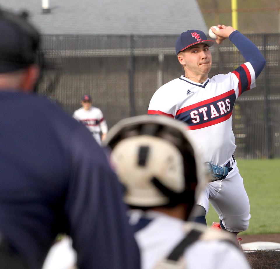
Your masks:
<path fill-rule="evenodd" d="M 113 148 L 111 161 L 126 187 L 124 198 L 129 205 L 166 205 L 170 202 L 167 194 L 179 194 L 185 189 L 183 158 L 174 145 L 162 138 L 125 138 Z M 151 182 L 154 177 L 166 191 Z"/>

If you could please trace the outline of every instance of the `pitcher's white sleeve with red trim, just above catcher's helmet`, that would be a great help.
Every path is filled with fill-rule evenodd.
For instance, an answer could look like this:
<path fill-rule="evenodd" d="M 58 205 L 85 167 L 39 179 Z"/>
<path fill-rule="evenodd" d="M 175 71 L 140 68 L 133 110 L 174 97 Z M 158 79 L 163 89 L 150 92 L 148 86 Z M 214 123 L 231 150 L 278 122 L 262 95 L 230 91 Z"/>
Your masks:
<path fill-rule="evenodd" d="M 162 88 L 159 88 L 154 93 L 149 104 L 148 114 L 163 115 L 163 116 L 175 118 L 176 105 L 172 104 L 172 101 L 170 100 L 170 96 L 168 96 Z"/>

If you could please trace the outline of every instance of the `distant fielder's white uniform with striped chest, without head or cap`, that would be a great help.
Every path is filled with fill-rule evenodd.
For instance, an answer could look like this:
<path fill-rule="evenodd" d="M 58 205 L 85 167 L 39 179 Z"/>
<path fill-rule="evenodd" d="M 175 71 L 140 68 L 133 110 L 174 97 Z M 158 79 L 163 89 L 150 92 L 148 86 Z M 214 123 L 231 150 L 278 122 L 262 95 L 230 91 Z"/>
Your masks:
<path fill-rule="evenodd" d="M 90 107 L 89 110 L 79 108 L 73 114 L 73 117 L 82 122 L 92 133 L 93 137 L 97 140 L 99 145 L 101 144 L 100 131 L 102 133 L 108 132 L 108 127 L 103 114 L 99 108 Z"/>

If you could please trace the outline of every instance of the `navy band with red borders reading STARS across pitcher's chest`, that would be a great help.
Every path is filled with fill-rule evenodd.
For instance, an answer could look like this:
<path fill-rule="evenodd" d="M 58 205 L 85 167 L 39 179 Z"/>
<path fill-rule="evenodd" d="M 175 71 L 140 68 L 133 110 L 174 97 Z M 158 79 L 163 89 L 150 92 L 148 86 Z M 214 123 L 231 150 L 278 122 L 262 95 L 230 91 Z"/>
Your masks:
<path fill-rule="evenodd" d="M 234 90 L 181 108 L 175 119 L 187 123 L 189 130 L 201 129 L 229 119 L 236 96 Z"/>

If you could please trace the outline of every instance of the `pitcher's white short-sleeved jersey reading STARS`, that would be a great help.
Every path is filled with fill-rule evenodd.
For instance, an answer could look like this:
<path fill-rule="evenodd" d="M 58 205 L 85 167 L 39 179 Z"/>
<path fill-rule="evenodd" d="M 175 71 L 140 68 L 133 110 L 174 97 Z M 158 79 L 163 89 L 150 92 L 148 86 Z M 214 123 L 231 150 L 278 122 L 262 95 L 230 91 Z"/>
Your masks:
<path fill-rule="evenodd" d="M 234 102 L 252 87 L 255 87 L 255 72 L 249 62 L 203 83 L 183 75 L 155 92 L 148 114 L 167 115 L 187 123 L 190 136 L 203 150 L 204 161 L 223 165 L 236 148 L 232 131 Z"/>

